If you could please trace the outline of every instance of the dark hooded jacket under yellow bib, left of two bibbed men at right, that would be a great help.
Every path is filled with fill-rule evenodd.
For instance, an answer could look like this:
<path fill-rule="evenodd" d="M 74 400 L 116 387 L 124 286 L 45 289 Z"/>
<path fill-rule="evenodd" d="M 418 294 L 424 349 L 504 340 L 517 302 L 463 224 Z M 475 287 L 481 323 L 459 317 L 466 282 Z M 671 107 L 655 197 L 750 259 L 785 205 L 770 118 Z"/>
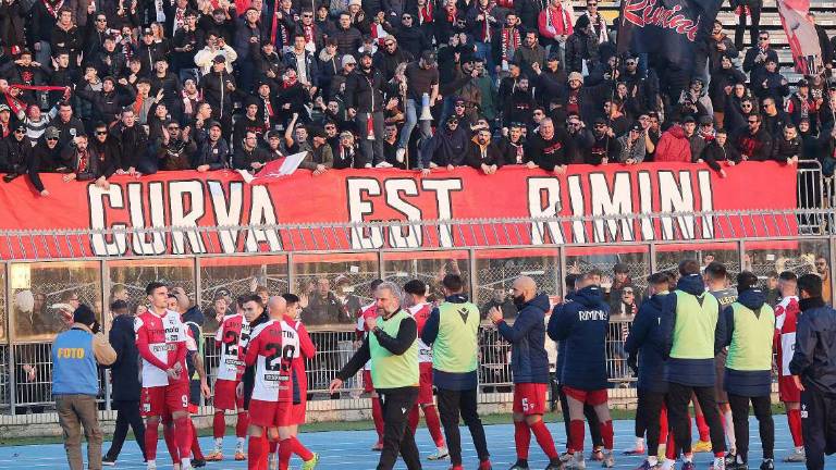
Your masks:
<path fill-rule="evenodd" d="M 676 293 L 668 295 L 665 297 L 660 326 L 660 334 L 662 335 L 660 338 L 662 355 L 667 358 L 665 379 L 668 382 L 688 386 L 714 386 L 716 379 L 714 356 L 722 348 L 720 343 L 723 338 L 722 332 L 717 334 L 717 329 L 722 325 L 720 322 L 720 302 L 716 301 L 711 293 L 705 292 L 705 284 L 702 281 L 702 276 L 699 274 L 680 277 L 679 282 L 676 284 L 676 290 L 681 294 L 697 297 L 697 301 L 700 302 L 700 305 L 705 301 L 712 301 L 717 306 L 717 321 L 710 325 L 710 327 L 714 330 L 714 350 L 710 358 L 685 359 L 669 357 L 671 350 L 674 348 L 674 343 L 680 338 L 675 336 L 678 314 L 677 295 Z M 702 314 L 702 312 L 693 312 L 689 314 Z"/>

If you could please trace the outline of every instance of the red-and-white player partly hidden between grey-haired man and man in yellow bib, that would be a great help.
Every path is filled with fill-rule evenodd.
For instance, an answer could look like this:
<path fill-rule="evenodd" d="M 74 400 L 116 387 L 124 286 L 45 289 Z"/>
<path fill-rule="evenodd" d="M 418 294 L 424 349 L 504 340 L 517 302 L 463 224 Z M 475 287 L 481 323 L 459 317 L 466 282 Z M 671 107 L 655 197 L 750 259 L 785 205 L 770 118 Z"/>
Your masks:
<path fill-rule="evenodd" d="M 440 460 L 450 457 L 447 446 L 444 443 L 444 434 L 441 432 L 441 419 L 435 409 L 435 401 L 432 397 L 432 348 L 421 341 L 421 332 L 427 319 L 430 318 L 432 305 L 427 302 L 427 284 L 421 281 L 413 280 L 404 285 L 404 292 L 407 294 L 407 304 L 411 305 L 407 309 L 418 324 L 418 367 L 420 372 L 420 387 L 418 389 L 418 400 L 409 412 L 409 426 L 413 428 L 413 434 L 418 428 L 420 413 L 423 411 L 423 419 L 427 421 L 427 430 L 435 443 L 437 452 L 428 457 L 429 460 Z"/>

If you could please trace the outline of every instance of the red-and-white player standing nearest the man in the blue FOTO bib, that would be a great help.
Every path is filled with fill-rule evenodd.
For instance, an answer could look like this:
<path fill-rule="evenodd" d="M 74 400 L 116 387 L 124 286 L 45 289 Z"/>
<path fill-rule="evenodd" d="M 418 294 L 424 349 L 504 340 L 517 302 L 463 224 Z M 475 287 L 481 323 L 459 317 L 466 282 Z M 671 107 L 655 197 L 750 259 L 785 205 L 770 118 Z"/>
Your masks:
<path fill-rule="evenodd" d="M 157 441 L 160 419 L 174 422 L 177 456 L 172 459 L 192 469 L 188 457 L 192 430 L 188 418 L 188 329 L 180 313 L 170 311 L 169 290 L 164 284 L 152 282 L 145 289 L 150 309 L 134 320 L 136 347 L 143 358 L 142 411 L 146 419 L 145 445 L 148 469 L 157 468 Z M 192 342 L 194 348 L 194 341 Z M 181 457 L 186 456 L 186 457 Z"/>

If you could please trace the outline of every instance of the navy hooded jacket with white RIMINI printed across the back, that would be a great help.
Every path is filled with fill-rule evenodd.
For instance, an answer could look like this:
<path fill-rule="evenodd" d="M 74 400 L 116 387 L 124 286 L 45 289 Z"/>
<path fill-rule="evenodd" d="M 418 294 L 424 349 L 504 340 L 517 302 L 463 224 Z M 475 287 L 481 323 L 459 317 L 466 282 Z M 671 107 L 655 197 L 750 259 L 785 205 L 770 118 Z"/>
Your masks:
<path fill-rule="evenodd" d="M 606 332 L 610 306 L 600 286 L 583 287 L 554 308 L 549 337 L 563 342 L 564 358 L 557 369 L 561 384 L 583 391 L 605 389 Z"/>

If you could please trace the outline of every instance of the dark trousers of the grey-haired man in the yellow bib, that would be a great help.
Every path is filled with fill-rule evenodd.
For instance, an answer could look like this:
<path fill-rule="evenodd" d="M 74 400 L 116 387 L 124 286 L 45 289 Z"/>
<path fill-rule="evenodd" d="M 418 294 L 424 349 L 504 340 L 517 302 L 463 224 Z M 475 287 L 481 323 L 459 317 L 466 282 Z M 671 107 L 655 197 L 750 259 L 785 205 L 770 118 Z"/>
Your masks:
<path fill-rule="evenodd" d="M 415 445 L 415 434 L 407 425 L 409 410 L 418 399 L 418 387 L 379 389 L 378 395 L 383 409 L 383 452 L 380 454 L 378 470 L 393 469 L 398 453 L 407 469 L 420 470 L 421 458 Z"/>

